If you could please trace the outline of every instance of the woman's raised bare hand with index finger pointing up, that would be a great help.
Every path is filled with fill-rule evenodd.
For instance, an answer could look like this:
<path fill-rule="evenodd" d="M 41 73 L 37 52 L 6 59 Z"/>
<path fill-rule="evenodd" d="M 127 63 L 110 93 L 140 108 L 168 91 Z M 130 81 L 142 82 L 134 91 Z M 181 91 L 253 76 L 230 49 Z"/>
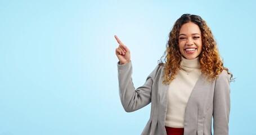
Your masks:
<path fill-rule="evenodd" d="M 126 64 L 131 61 L 131 52 L 130 50 L 124 46 L 121 40 L 115 35 L 116 41 L 119 43 L 118 48 L 115 49 L 115 55 L 118 57 L 120 64 Z"/>

